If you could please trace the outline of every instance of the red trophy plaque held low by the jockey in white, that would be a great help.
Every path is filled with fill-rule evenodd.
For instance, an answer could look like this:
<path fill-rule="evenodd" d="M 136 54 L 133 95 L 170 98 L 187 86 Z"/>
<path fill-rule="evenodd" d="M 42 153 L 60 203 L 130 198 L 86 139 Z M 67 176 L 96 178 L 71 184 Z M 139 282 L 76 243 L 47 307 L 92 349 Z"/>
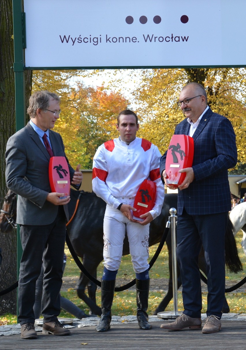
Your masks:
<path fill-rule="evenodd" d="M 137 211 L 133 212 L 133 219 L 143 221 L 140 215 L 153 209 L 156 197 L 156 183 L 151 180 L 144 180 L 136 194 L 133 207 Z"/>

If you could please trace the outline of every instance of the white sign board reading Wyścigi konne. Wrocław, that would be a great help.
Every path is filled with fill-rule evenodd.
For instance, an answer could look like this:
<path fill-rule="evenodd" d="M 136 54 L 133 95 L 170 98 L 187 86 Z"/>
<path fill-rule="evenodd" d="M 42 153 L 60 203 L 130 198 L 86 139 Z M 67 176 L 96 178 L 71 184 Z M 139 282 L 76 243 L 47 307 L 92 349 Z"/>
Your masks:
<path fill-rule="evenodd" d="M 245 66 L 245 0 L 24 0 L 26 67 Z"/>

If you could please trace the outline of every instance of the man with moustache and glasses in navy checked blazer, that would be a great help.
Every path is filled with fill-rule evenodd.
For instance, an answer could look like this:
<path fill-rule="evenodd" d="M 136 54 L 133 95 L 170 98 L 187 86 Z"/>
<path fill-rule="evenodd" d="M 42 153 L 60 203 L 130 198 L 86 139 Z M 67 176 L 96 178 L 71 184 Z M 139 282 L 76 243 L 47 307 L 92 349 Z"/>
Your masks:
<path fill-rule="evenodd" d="M 182 278 L 184 311 L 174 322 L 164 323 L 161 328 L 202 328 L 198 254 L 203 245 L 208 307 L 202 332 L 214 333 L 221 328 L 225 299 L 225 231 L 231 210 L 227 170 L 237 164 L 236 137 L 229 119 L 213 113 L 207 105 L 202 85 L 189 83 L 184 86 L 177 104 L 186 118 L 176 126 L 174 133 L 194 139 L 192 167 L 179 170 L 186 176 L 178 186 L 177 260 Z M 166 154 L 162 156 L 160 165 L 163 183 L 167 179 Z M 171 184 L 166 186 L 174 189 Z"/>

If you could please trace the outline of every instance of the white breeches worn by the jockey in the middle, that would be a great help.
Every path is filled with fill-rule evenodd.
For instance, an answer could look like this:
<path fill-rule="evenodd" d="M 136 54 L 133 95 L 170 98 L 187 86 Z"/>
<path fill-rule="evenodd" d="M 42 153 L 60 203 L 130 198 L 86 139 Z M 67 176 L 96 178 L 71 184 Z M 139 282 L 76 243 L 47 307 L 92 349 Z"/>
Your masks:
<path fill-rule="evenodd" d="M 133 206 L 134 198 L 119 198 L 121 203 Z M 132 264 L 135 273 L 141 273 L 149 268 L 149 224 L 142 226 L 129 221 L 120 210 L 106 206 L 104 215 L 104 266 L 115 271 L 120 267 L 122 248 L 127 233 Z"/>

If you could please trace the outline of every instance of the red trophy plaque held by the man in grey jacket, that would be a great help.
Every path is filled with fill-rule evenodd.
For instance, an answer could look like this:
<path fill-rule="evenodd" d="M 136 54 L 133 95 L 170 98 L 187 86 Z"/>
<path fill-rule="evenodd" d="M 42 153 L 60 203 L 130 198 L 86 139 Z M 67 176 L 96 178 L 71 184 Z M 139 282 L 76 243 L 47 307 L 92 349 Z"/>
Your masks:
<path fill-rule="evenodd" d="M 52 192 L 70 194 L 70 174 L 65 157 L 51 157 L 49 162 L 49 180 Z"/>

